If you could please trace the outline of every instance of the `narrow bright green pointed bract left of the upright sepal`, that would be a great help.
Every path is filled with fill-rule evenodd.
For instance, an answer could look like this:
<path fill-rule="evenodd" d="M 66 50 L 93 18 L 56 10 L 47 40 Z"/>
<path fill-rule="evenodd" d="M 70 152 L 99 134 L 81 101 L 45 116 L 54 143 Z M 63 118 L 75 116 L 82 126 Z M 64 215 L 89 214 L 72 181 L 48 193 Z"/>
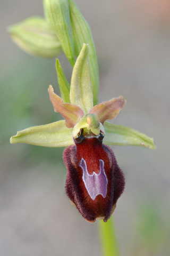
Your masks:
<path fill-rule="evenodd" d="M 64 75 L 60 61 L 56 59 L 55 67 L 57 71 L 58 85 L 60 87 L 61 98 L 64 102 L 70 103 L 70 84 Z"/>

